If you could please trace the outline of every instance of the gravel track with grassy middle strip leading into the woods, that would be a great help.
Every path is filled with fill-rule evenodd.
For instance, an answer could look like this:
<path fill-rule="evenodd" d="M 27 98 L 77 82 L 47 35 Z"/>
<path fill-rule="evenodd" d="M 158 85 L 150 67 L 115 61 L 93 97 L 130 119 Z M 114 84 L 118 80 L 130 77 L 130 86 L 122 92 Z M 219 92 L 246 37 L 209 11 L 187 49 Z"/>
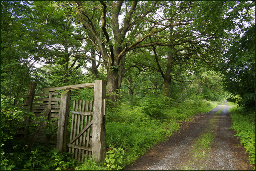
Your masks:
<path fill-rule="evenodd" d="M 226 102 L 181 125 L 179 132 L 140 156 L 126 170 L 253 170 Z"/>

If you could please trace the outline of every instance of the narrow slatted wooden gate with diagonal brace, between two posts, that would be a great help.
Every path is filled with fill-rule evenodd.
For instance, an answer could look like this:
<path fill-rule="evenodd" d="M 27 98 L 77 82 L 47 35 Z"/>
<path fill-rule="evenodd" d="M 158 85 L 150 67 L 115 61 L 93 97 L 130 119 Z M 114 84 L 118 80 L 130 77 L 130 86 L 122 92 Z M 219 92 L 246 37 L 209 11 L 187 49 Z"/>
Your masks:
<path fill-rule="evenodd" d="M 70 142 L 67 144 L 72 157 L 84 162 L 92 155 L 92 103 L 93 101 L 74 100 Z"/>

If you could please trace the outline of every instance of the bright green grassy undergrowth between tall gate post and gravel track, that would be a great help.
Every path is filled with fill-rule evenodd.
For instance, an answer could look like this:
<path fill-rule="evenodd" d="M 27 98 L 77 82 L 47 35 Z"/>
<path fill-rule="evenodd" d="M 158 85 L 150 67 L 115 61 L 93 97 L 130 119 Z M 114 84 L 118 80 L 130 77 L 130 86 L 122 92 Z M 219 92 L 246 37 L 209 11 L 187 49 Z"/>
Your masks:
<path fill-rule="evenodd" d="M 124 169 L 140 155 L 161 141 L 166 141 L 174 131 L 180 128 L 180 120 L 198 113 L 214 109 L 220 102 L 191 101 L 171 103 L 170 107 L 160 105 L 154 112 L 150 107 L 158 107 L 157 98 L 148 99 L 154 105 L 131 105 L 121 103 L 118 108 L 108 109 L 106 115 L 106 148 L 107 157 L 104 165 L 87 161 L 76 167 L 76 170 L 120 170 Z M 159 111 L 159 113 L 156 113 Z M 122 161 L 122 162 L 120 162 Z"/>

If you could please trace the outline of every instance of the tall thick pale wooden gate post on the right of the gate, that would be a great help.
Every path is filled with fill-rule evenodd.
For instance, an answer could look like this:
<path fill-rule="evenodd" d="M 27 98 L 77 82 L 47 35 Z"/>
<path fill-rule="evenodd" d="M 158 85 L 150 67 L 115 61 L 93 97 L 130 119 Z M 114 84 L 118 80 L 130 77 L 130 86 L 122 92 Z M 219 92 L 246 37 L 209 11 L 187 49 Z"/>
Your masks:
<path fill-rule="evenodd" d="M 92 119 L 92 158 L 104 162 L 106 158 L 105 112 L 106 112 L 106 81 L 95 80 L 94 105 Z"/>

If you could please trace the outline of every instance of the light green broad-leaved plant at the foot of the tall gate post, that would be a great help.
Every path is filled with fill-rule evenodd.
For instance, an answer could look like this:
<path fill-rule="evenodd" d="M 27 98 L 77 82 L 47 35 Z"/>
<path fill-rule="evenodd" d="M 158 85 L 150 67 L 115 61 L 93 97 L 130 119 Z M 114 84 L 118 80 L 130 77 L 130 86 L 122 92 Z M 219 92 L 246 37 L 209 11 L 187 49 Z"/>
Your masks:
<path fill-rule="evenodd" d="M 115 147 L 110 147 L 111 150 L 107 151 L 106 155 L 106 163 L 108 168 L 110 170 L 121 170 L 122 167 L 122 162 L 123 162 L 123 156 L 124 156 L 124 149 L 121 147 L 118 147 L 116 149 Z"/>

